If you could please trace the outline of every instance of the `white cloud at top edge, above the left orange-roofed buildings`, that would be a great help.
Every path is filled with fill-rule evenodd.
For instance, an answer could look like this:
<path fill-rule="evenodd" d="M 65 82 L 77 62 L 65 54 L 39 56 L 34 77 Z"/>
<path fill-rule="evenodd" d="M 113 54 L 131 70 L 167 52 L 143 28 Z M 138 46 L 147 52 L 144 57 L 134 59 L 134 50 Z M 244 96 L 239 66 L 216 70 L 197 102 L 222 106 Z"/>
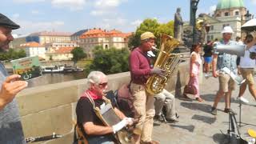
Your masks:
<path fill-rule="evenodd" d="M 51 4 L 58 8 L 69 8 L 70 10 L 82 10 L 86 0 L 52 0 Z"/>

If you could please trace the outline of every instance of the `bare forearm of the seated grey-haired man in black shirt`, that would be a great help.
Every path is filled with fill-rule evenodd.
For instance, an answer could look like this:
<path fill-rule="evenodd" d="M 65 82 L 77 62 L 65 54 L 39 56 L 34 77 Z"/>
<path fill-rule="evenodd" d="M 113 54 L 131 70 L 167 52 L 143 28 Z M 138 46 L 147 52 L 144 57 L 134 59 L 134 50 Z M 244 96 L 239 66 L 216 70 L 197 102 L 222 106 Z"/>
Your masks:
<path fill-rule="evenodd" d="M 98 126 L 94 125 L 93 122 L 84 123 L 83 128 L 86 131 L 86 134 L 104 135 L 113 133 L 113 128 L 111 126 Z"/>

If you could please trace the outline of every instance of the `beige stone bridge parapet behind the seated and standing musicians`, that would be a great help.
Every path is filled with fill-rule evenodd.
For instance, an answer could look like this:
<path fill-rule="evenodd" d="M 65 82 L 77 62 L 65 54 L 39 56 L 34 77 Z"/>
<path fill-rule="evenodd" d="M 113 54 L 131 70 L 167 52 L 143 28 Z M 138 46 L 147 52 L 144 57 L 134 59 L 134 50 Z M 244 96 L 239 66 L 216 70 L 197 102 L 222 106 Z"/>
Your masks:
<path fill-rule="evenodd" d="M 181 88 L 189 78 L 188 73 L 188 63 L 182 62 L 178 72 L 170 78 L 166 89 L 174 91 L 176 97 L 181 95 Z M 108 78 L 109 89 L 117 90 L 130 81 L 130 73 L 111 74 Z M 76 102 L 86 87 L 86 79 L 82 79 L 28 88 L 18 94 L 25 137 L 45 136 L 55 132 L 63 134 L 64 137 L 44 143 L 72 143 Z"/>

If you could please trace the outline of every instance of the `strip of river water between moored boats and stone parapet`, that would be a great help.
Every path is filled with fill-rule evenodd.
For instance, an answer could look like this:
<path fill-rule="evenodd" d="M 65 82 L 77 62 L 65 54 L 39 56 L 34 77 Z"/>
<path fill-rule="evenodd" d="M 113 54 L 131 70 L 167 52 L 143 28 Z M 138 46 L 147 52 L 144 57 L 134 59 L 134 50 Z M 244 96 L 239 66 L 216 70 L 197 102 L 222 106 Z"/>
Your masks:
<path fill-rule="evenodd" d="M 84 72 L 66 73 L 66 74 L 42 74 L 41 77 L 30 79 L 28 87 L 43 86 L 59 82 L 73 81 L 86 78 Z"/>

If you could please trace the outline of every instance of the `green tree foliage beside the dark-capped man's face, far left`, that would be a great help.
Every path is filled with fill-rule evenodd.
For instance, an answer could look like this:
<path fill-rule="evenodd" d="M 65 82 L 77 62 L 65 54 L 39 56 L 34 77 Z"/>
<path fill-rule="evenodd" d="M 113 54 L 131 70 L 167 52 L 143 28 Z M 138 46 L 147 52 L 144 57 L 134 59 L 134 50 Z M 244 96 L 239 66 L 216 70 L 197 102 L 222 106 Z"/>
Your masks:
<path fill-rule="evenodd" d="M 25 50 L 14 50 L 10 49 L 7 52 L 2 52 L 0 53 L 0 60 L 1 61 L 6 61 L 6 60 L 13 60 L 13 59 L 18 59 L 18 58 L 24 58 L 26 57 L 26 52 Z"/>

